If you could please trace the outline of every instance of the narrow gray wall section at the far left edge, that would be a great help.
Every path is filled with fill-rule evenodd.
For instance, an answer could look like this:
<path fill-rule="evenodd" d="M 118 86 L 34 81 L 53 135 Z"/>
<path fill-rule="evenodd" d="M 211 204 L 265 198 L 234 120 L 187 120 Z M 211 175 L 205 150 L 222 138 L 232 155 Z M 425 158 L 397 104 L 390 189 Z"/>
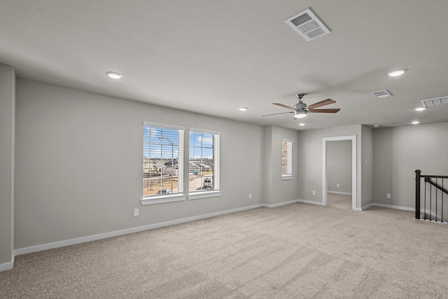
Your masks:
<path fill-rule="evenodd" d="M 0 267 L 10 268 L 14 242 L 15 74 L 14 68 L 5 64 L 0 64 L 0 107 Z"/>

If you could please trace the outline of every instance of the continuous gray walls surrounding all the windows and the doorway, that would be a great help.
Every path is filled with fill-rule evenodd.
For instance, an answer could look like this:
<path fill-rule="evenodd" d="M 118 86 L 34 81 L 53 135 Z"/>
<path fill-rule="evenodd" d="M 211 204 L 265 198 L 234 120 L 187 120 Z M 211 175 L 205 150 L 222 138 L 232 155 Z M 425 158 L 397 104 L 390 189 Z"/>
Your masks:
<path fill-rule="evenodd" d="M 0 67 L 0 85 L 0 265 L 10 263 L 12 244 L 23 249 L 261 203 L 321 202 L 323 137 L 357 136 L 356 207 L 412 208 L 414 170 L 448 169 L 448 123 L 297 132 L 20 78 L 15 83 L 12 67 Z M 221 132 L 221 197 L 141 206 L 144 120 Z M 288 181 L 281 180 L 283 138 L 293 140 Z"/>

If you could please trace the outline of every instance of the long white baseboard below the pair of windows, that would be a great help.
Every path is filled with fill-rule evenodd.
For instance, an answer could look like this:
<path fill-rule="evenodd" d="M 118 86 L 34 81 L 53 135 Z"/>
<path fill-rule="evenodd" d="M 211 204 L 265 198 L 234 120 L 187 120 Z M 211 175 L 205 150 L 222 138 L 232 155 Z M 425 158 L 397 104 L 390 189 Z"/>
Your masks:
<path fill-rule="evenodd" d="M 166 221 L 166 222 L 161 222 L 161 223 L 154 223 L 154 224 L 150 224 L 150 225 L 140 226 L 137 228 L 128 228 L 126 230 L 117 230 L 115 232 L 106 232 L 104 234 L 99 234 L 99 235 L 92 235 L 92 236 L 80 237 L 80 238 L 76 238 L 76 239 L 68 239 L 65 241 L 53 242 L 53 243 L 48 243 L 48 244 L 29 246 L 29 247 L 25 247 L 25 248 L 15 249 L 14 256 L 20 256 L 21 254 L 26 254 L 26 253 L 36 252 L 36 251 L 43 251 L 43 250 L 47 250 L 47 249 L 54 249 L 54 248 L 58 248 L 58 247 L 62 247 L 62 246 L 69 246 L 69 245 L 80 244 L 80 243 L 84 243 L 84 242 L 95 241 L 98 239 L 106 239 L 109 237 L 117 237 L 120 235 L 127 235 L 127 234 L 131 234 L 133 232 L 141 232 L 144 230 L 153 230 L 154 228 L 162 228 L 162 227 L 168 226 L 168 225 L 186 223 L 186 222 L 196 221 L 196 220 L 200 220 L 200 219 L 204 219 L 204 218 L 210 218 L 210 217 L 214 217 L 214 216 L 231 214 L 231 213 L 235 213 L 237 211 L 244 211 L 247 209 L 255 209 L 258 207 L 262 207 L 262 204 L 254 204 L 254 205 L 248 206 L 248 207 L 241 207 L 241 208 L 230 209 L 230 210 L 226 210 L 226 211 L 218 211 L 215 213 L 181 218 L 181 219 Z M 13 264 L 14 263 L 12 263 L 12 265 Z M 5 264 L 2 264 L 2 265 L 5 265 Z M 10 269 L 12 269 L 12 266 Z M 6 269 L 6 270 L 8 270 L 8 269 Z"/>

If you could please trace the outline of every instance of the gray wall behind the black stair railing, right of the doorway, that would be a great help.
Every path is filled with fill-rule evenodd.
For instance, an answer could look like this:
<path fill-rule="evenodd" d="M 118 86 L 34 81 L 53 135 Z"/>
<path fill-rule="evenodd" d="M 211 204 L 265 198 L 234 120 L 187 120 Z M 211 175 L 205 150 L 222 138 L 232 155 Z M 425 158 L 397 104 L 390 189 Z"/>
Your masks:
<path fill-rule="evenodd" d="M 373 153 L 372 202 L 414 208 L 415 169 L 448 175 L 448 123 L 374 130 Z"/>

